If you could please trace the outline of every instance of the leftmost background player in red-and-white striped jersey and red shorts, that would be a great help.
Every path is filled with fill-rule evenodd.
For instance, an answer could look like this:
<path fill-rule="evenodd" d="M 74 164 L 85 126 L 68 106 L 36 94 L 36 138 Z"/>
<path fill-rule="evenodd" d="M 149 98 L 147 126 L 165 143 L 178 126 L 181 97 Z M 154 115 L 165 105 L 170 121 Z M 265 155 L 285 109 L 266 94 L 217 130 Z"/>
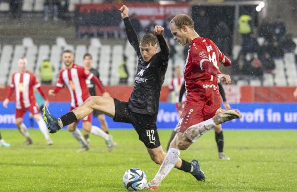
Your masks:
<path fill-rule="evenodd" d="M 17 62 L 18 72 L 12 74 L 10 89 L 8 94 L 3 101 L 3 106 L 7 108 L 9 98 L 15 89 L 15 123 L 18 130 L 26 138 L 24 142 L 25 145 L 32 144 L 32 139 L 27 131 L 26 125 L 23 123 L 23 116 L 26 111 L 30 111 L 33 114 L 35 121 L 42 134 L 44 135 L 48 145 L 52 145 L 53 142 L 49 137 L 46 124 L 41 117 L 39 106 L 36 103 L 33 88 L 36 88 L 40 95 L 45 100 L 44 105 L 48 105 L 48 100 L 40 88 L 40 83 L 37 81 L 36 76 L 27 71 L 27 60 L 25 58 L 20 58 Z"/>

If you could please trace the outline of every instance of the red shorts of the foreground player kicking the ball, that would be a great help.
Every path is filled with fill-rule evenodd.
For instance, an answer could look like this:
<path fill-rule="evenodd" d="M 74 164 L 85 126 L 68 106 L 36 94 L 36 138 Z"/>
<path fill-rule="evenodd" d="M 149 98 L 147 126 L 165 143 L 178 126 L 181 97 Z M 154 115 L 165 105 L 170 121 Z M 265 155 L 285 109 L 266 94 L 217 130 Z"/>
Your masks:
<path fill-rule="evenodd" d="M 220 107 L 221 104 L 212 106 L 207 104 L 202 106 L 185 104 L 175 131 L 183 133 L 190 126 L 212 118 Z"/>

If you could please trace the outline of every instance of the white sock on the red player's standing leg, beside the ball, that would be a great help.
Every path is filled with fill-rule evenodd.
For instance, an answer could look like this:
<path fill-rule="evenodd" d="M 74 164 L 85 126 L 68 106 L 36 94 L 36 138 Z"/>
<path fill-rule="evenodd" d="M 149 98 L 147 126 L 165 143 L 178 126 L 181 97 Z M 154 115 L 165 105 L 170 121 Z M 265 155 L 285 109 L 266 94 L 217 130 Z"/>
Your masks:
<path fill-rule="evenodd" d="M 158 186 L 162 182 L 162 180 L 169 174 L 171 169 L 175 166 L 178 158 L 179 158 L 179 150 L 170 148 L 168 153 L 158 170 L 157 174 L 154 176 L 153 180 L 151 181 L 152 186 Z"/>

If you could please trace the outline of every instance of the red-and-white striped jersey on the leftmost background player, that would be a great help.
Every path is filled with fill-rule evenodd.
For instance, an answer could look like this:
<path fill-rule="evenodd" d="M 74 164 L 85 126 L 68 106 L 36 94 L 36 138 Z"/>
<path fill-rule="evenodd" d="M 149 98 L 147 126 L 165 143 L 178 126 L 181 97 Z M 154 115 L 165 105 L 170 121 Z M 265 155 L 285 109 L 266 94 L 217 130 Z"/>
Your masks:
<path fill-rule="evenodd" d="M 12 94 L 12 90 L 15 89 L 15 101 L 16 108 L 27 108 L 31 104 L 35 104 L 35 96 L 33 88 L 39 88 L 40 83 L 37 81 L 36 76 L 26 71 L 24 73 L 15 72 L 12 74 L 10 90 L 7 98 Z"/>

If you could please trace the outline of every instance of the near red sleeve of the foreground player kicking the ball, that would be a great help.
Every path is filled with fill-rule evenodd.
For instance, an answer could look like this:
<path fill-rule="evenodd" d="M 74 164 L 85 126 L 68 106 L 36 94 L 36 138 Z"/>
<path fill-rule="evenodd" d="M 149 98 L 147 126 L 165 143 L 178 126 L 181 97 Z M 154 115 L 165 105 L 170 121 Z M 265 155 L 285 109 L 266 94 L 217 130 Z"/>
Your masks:
<path fill-rule="evenodd" d="M 201 70 L 207 71 L 210 75 L 217 76 L 221 74 L 218 68 L 207 58 L 207 51 L 199 45 L 191 46 L 191 57 L 195 65 L 199 66 Z"/>

